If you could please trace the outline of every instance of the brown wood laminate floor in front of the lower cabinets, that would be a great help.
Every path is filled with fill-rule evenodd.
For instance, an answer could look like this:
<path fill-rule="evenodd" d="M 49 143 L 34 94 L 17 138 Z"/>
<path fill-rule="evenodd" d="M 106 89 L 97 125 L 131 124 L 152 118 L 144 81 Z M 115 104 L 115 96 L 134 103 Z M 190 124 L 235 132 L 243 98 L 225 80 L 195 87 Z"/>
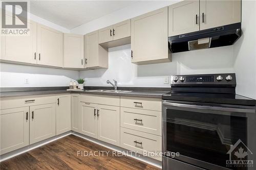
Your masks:
<path fill-rule="evenodd" d="M 77 151 L 101 156 L 77 156 Z M 106 152 L 109 152 L 106 156 Z M 113 151 L 69 135 L 0 163 L 0 169 L 160 169 L 127 156 L 113 156 Z"/>

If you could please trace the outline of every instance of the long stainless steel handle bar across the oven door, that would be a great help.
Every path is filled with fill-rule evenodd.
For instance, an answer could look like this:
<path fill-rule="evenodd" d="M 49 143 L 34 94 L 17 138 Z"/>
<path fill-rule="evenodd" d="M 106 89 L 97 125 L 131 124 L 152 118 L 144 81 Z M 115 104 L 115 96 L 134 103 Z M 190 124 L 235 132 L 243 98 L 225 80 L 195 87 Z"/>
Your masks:
<path fill-rule="evenodd" d="M 239 113 L 255 113 L 254 109 L 241 109 L 241 108 L 216 107 L 216 106 L 199 106 L 199 105 L 187 105 L 187 104 L 168 103 L 168 102 L 163 102 L 163 105 L 191 108 L 191 109 L 202 109 L 202 110 L 217 110 L 217 111 L 239 112 Z"/>

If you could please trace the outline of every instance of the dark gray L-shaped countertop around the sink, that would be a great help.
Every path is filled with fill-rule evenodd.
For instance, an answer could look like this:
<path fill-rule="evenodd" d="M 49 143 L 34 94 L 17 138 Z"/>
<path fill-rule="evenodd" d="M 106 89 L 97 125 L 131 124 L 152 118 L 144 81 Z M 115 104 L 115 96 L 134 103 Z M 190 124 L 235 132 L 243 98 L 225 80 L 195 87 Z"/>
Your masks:
<path fill-rule="evenodd" d="M 162 98 L 162 94 L 169 92 L 170 88 L 158 87 L 121 87 L 122 90 L 131 92 L 114 93 L 114 92 L 95 92 L 95 91 L 67 91 L 68 87 L 31 87 L 31 88 L 1 88 L 1 97 L 28 96 L 42 94 L 60 94 L 60 93 L 81 93 L 81 94 L 100 94 L 100 95 L 119 95 L 119 96 L 138 96 L 146 98 Z M 86 87 L 86 89 L 109 89 L 106 87 Z M 48 90 L 46 90 L 48 89 Z"/>

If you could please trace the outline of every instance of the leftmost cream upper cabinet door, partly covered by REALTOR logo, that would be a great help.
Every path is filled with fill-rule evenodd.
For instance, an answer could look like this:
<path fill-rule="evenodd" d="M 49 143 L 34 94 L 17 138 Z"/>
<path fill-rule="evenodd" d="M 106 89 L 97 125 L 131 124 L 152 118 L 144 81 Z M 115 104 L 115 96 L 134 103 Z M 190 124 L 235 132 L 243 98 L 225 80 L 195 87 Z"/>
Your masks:
<path fill-rule="evenodd" d="M 28 26 L 28 35 L 1 36 L 1 60 L 36 64 L 37 23 L 28 20 Z"/>

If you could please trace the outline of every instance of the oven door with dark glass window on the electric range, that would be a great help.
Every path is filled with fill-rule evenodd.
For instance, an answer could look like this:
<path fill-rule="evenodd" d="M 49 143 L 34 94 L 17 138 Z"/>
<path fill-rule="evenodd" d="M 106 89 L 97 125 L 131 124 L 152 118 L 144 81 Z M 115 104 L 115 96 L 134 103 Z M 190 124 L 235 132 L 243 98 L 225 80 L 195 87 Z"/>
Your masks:
<path fill-rule="evenodd" d="M 170 158 L 171 153 L 179 153 L 180 156 L 172 158 L 206 169 L 247 169 L 229 165 L 227 161 L 237 159 L 236 151 L 243 154 L 237 150 L 241 144 L 254 150 L 255 135 L 247 135 L 254 134 L 255 128 L 249 129 L 255 127 L 254 107 L 177 101 L 163 101 L 162 105 L 165 156 Z M 239 146 L 231 151 L 231 145 L 237 142 Z M 246 152 L 248 155 L 239 159 L 252 158 L 251 151 Z"/>

